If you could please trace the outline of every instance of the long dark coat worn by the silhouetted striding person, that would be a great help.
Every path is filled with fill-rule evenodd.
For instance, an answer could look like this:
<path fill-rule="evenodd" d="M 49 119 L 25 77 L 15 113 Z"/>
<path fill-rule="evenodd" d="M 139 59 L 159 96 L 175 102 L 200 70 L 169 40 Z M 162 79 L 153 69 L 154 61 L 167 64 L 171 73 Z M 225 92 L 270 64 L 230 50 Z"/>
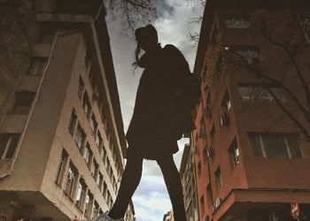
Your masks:
<path fill-rule="evenodd" d="M 184 77 L 189 65 L 180 50 L 167 45 L 144 54 L 145 68 L 136 94 L 136 104 L 126 134 L 128 155 L 146 159 L 174 154 L 182 133 L 194 128 L 190 110 L 182 101 Z"/>

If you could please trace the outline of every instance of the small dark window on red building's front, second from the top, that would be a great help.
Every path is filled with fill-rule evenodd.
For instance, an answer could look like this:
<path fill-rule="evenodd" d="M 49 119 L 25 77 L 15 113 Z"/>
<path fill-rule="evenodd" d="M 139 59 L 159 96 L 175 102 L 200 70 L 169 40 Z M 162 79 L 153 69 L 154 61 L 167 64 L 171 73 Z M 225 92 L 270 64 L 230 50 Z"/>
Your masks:
<path fill-rule="evenodd" d="M 232 59 L 242 62 L 244 59 L 250 65 L 260 64 L 260 50 L 258 47 L 233 47 Z"/>

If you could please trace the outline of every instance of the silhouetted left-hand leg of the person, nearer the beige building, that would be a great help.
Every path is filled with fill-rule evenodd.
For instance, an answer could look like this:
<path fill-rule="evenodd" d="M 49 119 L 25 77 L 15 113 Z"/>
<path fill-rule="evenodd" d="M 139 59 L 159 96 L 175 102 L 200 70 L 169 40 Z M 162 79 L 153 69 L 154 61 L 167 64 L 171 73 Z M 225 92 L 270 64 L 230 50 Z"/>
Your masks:
<path fill-rule="evenodd" d="M 142 157 L 128 156 L 125 171 L 120 181 L 119 194 L 109 212 L 109 217 L 118 219 L 125 216 L 131 197 L 140 183 L 142 167 Z"/>

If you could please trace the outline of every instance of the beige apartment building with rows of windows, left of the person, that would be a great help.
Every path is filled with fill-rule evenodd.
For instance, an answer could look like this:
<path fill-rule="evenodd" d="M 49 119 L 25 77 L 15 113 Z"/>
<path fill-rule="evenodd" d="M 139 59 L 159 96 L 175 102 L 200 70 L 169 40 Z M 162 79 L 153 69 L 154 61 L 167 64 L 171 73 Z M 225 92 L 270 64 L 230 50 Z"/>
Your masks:
<path fill-rule="evenodd" d="M 95 218 L 112 207 L 126 156 L 105 5 L 1 5 L 12 6 L 19 17 L 2 34 L 27 53 L 1 53 L 0 219 Z"/>

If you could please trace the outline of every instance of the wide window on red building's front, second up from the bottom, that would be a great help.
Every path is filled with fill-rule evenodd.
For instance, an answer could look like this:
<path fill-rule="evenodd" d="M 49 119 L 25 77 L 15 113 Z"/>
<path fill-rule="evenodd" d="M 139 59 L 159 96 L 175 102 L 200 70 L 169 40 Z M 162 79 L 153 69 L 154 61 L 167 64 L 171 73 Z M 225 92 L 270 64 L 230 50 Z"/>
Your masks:
<path fill-rule="evenodd" d="M 275 95 L 276 99 L 283 101 L 281 88 L 266 86 Z M 274 97 L 268 92 L 267 88 L 260 85 L 241 85 L 238 87 L 239 94 L 243 102 L 273 102 Z"/>

